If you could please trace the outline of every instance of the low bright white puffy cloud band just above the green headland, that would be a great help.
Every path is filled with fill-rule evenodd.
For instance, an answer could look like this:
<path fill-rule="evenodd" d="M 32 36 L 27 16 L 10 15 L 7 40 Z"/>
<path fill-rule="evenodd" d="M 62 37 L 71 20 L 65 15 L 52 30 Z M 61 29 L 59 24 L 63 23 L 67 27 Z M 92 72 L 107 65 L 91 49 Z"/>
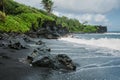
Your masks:
<path fill-rule="evenodd" d="M 86 14 L 72 14 L 72 13 L 60 13 L 57 11 L 53 12 L 57 16 L 67 16 L 69 18 L 75 18 L 78 19 L 80 22 L 88 21 L 90 24 L 106 24 L 109 22 L 107 19 L 106 15 L 103 14 L 91 14 L 91 13 L 86 13 Z"/>

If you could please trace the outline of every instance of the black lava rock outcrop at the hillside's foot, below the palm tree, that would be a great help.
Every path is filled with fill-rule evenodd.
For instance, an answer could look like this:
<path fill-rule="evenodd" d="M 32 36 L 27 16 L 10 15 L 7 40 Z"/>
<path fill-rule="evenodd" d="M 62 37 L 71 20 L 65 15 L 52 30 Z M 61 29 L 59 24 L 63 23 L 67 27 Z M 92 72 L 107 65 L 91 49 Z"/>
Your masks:
<path fill-rule="evenodd" d="M 31 31 L 26 33 L 30 37 L 45 37 L 47 39 L 57 39 L 58 37 L 65 36 L 69 33 L 69 30 L 62 25 L 57 25 L 55 21 L 44 21 L 42 27 L 34 29 L 32 27 Z"/>

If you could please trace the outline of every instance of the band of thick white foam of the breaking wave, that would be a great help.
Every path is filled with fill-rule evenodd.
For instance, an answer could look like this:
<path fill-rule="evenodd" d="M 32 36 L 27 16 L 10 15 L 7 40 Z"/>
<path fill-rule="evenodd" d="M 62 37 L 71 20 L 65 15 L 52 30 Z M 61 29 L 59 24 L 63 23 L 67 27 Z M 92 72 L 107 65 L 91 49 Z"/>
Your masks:
<path fill-rule="evenodd" d="M 100 38 L 100 39 L 77 39 L 77 38 L 61 38 L 59 40 L 68 41 L 77 44 L 92 45 L 98 47 L 106 47 L 109 49 L 120 50 L 120 39 Z"/>

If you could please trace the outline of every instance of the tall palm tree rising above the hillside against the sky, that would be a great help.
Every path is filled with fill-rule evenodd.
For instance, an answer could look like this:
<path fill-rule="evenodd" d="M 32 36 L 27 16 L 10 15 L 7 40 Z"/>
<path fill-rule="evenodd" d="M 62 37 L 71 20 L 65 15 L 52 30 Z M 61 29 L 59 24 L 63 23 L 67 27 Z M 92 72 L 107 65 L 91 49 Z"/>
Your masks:
<path fill-rule="evenodd" d="M 53 1 L 52 0 L 42 0 L 42 4 L 44 6 L 44 9 L 48 12 L 51 13 L 53 9 Z"/>

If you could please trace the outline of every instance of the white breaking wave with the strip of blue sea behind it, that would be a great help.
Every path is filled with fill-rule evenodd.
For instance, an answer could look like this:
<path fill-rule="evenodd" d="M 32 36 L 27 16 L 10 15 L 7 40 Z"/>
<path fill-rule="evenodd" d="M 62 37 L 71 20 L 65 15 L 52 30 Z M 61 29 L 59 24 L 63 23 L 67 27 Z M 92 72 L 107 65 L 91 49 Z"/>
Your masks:
<path fill-rule="evenodd" d="M 120 33 L 74 34 L 72 38 L 62 38 L 72 43 L 120 50 Z"/>

